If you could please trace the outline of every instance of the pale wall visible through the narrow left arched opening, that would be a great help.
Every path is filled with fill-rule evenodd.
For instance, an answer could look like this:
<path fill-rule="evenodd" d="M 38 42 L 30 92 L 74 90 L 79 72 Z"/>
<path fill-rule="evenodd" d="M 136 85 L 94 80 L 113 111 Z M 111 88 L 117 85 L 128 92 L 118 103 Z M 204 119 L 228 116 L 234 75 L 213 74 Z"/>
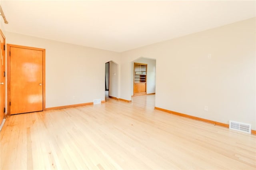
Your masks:
<path fill-rule="evenodd" d="M 109 62 L 109 96 L 118 98 L 118 65 Z"/>

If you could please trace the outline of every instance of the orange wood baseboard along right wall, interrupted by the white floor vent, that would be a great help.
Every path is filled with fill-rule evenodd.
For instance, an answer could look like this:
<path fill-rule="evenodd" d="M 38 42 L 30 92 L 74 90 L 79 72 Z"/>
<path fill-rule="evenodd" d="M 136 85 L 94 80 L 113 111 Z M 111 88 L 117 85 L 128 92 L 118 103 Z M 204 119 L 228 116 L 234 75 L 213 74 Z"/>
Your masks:
<path fill-rule="evenodd" d="M 170 111 L 170 110 L 167 110 L 167 109 L 162 109 L 160 107 L 155 107 L 155 109 L 160 110 L 160 111 L 164 111 L 164 112 L 167 112 L 167 113 L 171 113 L 173 115 L 178 115 L 178 116 L 186 117 L 186 118 L 189 118 L 189 119 L 194 119 L 194 120 L 198 120 L 198 121 L 202 121 L 202 122 L 218 125 L 218 126 L 221 126 L 221 127 L 229 128 L 229 125 L 225 124 L 225 123 L 220 123 L 220 122 L 211 121 L 211 120 L 208 120 L 208 119 L 203 119 L 203 118 L 200 118 L 200 117 L 186 115 L 186 114 L 183 114 L 183 113 L 178 113 L 178 112 Z M 251 134 L 256 135 L 256 130 L 251 130 Z"/>

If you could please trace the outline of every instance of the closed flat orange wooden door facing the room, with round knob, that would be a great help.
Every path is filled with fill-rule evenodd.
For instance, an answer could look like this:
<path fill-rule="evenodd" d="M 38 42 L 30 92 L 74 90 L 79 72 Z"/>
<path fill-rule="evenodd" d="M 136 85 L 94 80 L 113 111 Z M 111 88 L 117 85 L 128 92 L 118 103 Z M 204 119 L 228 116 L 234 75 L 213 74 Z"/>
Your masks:
<path fill-rule="evenodd" d="M 44 49 L 10 46 L 10 114 L 44 110 Z"/>

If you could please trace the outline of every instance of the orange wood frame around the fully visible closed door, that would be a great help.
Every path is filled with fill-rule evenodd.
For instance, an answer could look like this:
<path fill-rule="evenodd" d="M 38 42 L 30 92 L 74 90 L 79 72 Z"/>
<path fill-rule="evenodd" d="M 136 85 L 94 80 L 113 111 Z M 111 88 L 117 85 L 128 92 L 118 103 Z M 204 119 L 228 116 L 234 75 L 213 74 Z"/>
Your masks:
<path fill-rule="evenodd" d="M 10 103 L 10 47 L 16 48 L 25 48 L 25 49 L 34 49 L 43 52 L 43 111 L 45 109 L 45 49 L 43 48 L 36 48 L 36 47 L 28 47 L 22 45 L 14 45 L 14 44 L 7 44 L 7 103 Z M 10 116 L 10 104 L 7 105 L 7 115 Z"/>

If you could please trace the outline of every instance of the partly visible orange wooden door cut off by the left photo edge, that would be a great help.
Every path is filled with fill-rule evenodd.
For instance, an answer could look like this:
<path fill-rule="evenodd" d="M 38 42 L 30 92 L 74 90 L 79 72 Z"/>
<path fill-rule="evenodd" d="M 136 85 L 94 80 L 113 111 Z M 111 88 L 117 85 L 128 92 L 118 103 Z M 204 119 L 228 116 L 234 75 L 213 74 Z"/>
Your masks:
<path fill-rule="evenodd" d="M 0 125 L 5 115 L 5 38 L 0 31 Z"/>

